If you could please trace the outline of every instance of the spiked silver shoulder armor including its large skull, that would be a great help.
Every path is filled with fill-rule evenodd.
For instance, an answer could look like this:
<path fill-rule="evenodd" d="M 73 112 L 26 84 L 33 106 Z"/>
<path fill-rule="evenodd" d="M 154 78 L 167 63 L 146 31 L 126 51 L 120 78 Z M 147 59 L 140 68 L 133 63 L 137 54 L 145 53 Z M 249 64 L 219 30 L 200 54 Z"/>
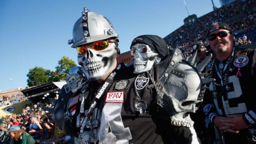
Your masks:
<path fill-rule="evenodd" d="M 162 85 L 159 87 L 161 95 L 158 96 L 158 104 L 170 114 L 171 123 L 175 126 L 193 126 L 190 113 L 195 113 L 201 105 L 207 88 L 201 72 L 211 56 L 196 67 L 195 56 L 196 53 L 185 60 L 181 50 L 176 48 L 159 65 L 163 73 L 159 78 Z"/>

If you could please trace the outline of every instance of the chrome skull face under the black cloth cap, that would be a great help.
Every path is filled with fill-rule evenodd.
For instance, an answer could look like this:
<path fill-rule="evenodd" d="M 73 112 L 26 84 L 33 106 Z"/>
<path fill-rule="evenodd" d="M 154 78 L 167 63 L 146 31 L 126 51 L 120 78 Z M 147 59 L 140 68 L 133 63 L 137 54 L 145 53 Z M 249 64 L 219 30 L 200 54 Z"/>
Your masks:
<path fill-rule="evenodd" d="M 148 45 L 142 43 L 136 43 L 131 47 L 131 56 L 133 57 L 133 73 L 135 74 L 149 71 L 161 60 L 155 50 L 151 50 Z"/>

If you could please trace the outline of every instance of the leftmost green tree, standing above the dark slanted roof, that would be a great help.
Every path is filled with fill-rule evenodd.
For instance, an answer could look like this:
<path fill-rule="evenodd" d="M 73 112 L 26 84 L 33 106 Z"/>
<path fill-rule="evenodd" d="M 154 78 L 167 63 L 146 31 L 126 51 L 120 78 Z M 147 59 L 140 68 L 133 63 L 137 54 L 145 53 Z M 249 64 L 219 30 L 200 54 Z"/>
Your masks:
<path fill-rule="evenodd" d="M 43 69 L 42 67 L 34 67 L 29 69 L 27 74 L 27 85 L 28 86 L 37 86 L 43 85 L 49 82 L 49 72 L 50 70 Z"/>

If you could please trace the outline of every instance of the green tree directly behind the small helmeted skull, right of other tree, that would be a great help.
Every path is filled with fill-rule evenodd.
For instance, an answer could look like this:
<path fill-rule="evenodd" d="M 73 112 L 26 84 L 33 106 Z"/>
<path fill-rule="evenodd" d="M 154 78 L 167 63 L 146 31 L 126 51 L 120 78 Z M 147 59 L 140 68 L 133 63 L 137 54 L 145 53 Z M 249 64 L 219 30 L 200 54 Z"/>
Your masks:
<path fill-rule="evenodd" d="M 58 66 L 55 67 L 55 73 L 58 74 L 59 80 L 64 80 L 65 76 L 68 74 L 68 70 L 74 66 L 76 66 L 76 64 L 72 59 L 63 56 L 62 59 L 58 61 Z"/>

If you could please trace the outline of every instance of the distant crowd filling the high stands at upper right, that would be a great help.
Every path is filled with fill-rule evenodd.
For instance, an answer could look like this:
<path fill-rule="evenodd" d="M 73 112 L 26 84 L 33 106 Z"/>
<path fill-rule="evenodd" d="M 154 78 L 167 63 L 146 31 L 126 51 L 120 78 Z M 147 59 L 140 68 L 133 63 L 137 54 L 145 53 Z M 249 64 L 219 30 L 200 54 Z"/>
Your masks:
<path fill-rule="evenodd" d="M 208 46 L 207 30 L 213 22 L 226 22 L 234 31 L 236 44 L 248 44 L 253 41 L 247 38 L 242 42 L 238 35 L 239 32 L 255 34 L 256 25 L 256 1 L 255 0 L 236 0 L 227 6 L 222 6 L 204 16 L 197 18 L 195 22 L 181 26 L 164 39 L 169 47 L 178 48 L 184 52 L 184 56 L 190 56 L 193 52 L 192 46 L 197 43 L 203 43 Z"/>

